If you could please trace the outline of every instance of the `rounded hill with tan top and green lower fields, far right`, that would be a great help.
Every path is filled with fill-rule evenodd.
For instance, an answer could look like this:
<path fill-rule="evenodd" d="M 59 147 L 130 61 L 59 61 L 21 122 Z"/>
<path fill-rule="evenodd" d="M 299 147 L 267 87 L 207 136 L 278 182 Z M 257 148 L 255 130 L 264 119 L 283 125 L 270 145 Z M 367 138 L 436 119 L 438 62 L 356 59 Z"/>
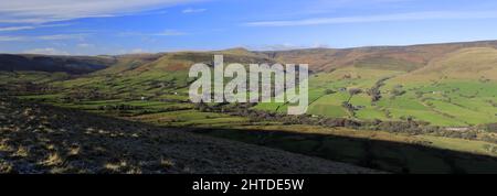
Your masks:
<path fill-rule="evenodd" d="M 474 126 L 497 121 L 497 50 L 472 47 L 447 54 L 427 66 L 388 81 L 384 89 L 402 85 L 410 110 L 384 102 L 394 116 L 410 115 L 442 126 Z M 408 102 L 402 100 L 401 102 Z M 395 115 L 396 113 L 396 115 Z"/>

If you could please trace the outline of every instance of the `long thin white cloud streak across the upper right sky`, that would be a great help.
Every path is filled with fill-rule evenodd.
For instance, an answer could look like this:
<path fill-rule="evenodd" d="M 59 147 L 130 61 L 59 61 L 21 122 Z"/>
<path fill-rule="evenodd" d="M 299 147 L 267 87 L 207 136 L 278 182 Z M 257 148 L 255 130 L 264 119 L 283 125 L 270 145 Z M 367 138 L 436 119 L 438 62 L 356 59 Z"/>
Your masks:
<path fill-rule="evenodd" d="M 257 21 L 248 22 L 246 26 L 302 26 L 319 24 L 340 24 L 340 23 L 368 23 L 368 22 L 390 22 L 390 21 L 416 21 L 416 20 L 468 20 L 468 19 L 496 19 L 496 11 L 482 12 L 410 12 L 380 15 L 359 15 L 341 18 L 311 18 L 302 20 L 286 21 Z"/>

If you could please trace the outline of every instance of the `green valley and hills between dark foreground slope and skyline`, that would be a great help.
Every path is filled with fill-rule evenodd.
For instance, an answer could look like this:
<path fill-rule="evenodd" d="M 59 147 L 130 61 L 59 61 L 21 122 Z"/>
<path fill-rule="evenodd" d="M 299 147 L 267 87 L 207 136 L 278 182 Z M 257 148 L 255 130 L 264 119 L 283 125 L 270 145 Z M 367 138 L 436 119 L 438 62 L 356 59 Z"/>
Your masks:
<path fill-rule="evenodd" d="M 2 72 L 0 87 L 28 101 L 390 172 L 476 173 L 495 168 L 497 156 L 497 135 L 483 129 L 497 122 L 495 43 L 123 55 L 81 76 Z M 309 116 L 277 115 L 285 104 L 189 102 L 189 67 L 212 66 L 215 54 L 225 64 L 309 63 Z"/>

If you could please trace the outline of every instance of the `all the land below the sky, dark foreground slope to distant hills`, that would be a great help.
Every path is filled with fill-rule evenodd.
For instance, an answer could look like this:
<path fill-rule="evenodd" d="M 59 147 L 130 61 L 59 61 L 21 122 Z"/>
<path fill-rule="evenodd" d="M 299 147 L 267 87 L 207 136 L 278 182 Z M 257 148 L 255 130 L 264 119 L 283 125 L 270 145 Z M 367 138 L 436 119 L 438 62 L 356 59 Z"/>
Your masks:
<path fill-rule="evenodd" d="M 309 64 L 308 113 L 191 104 L 214 54 Z M 0 55 L 0 79 L 3 173 L 497 173 L 496 41 Z"/>

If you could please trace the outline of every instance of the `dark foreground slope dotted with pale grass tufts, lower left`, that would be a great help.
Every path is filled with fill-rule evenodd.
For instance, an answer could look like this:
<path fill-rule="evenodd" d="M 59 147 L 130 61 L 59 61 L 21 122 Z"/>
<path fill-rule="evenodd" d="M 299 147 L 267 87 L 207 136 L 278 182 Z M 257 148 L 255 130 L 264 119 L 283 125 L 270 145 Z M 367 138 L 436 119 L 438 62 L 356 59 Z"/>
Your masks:
<path fill-rule="evenodd" d="M 0 99 L 0 173 L 378 173 L 144 123 Z"/>

